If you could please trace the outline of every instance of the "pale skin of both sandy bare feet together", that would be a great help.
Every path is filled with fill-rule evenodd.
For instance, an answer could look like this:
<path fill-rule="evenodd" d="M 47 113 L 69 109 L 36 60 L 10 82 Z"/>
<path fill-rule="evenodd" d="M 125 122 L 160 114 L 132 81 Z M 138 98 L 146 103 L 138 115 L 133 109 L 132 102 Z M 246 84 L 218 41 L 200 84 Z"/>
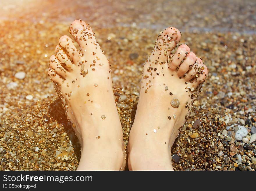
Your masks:
<path fill-rule="evenodd" d="M 81 144 L 77 170 L 124 170 L 126 153 L 109 61 L 87 23 L 75 20 L 70 33 L 80 48 L 62 36 L 50 58 L 48 75 L 65 100 Z M 185 44 L 171 54 L 180 38 L 176 28 L 165 29 L 143 67 L 127 149 L 129 170 L 173 170 L 171 147 L 208 74 Z M 173 98 L 179 100 L 179 107 L 170 104 Z"/>

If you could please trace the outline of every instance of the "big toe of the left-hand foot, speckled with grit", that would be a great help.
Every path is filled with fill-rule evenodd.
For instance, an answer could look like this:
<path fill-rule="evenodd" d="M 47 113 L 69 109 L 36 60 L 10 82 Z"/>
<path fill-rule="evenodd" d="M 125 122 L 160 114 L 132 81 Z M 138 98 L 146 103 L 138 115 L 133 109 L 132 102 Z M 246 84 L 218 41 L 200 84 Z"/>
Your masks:
<path fill-rule="evenodd" d="M 70 25 L 70 33 L 81 48 L 81 56 L 86 53 L 86 48 L 92 49 L 93 47 L 100 50 L 94 32 L 86 22 L 83 22 L 82 20 L 75 20 L 72 22 Z"/>

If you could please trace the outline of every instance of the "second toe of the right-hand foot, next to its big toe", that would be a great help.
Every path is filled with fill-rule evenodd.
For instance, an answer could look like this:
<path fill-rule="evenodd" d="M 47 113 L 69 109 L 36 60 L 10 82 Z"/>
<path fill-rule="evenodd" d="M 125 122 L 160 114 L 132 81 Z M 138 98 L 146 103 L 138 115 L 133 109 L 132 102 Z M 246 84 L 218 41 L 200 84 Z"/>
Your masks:
<path fill-rule="evenodd" d="M 183 59 L 189 54 L 189 52 L 190 48 L 186 44 L 180 45 L 176 53 L 171 57 L 169 68 L 172 70 L 178 70 L 179 65 L 184 61 Z"/>

